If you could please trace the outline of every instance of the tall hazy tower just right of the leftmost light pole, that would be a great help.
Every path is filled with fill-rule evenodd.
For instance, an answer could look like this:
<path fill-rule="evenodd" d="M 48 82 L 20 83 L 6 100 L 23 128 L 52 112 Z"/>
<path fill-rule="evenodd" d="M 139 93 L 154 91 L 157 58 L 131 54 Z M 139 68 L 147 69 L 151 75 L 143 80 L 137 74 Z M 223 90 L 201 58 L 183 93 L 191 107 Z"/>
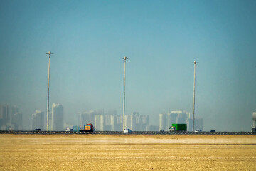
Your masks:
<path fill-rule="evenodd" d="M 51 123 L 51 130 L 65 130 L 63 105 L 53 103 Z"/>

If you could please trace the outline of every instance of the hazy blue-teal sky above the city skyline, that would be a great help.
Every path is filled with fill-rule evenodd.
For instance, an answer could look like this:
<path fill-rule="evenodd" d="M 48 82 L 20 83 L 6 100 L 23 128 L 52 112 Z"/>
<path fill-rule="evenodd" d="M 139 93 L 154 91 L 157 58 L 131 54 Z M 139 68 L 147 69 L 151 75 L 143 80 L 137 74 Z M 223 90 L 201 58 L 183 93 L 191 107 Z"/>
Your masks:
<path fill-rule="evenodd" d="M 50 104 L 83 110 L 192 113 L 204 130 L 250 131 L 256 111 L 256 1 L 0 1 L 0 104 L 24 127 Z M 51 107 L 51 105 L 50 105 Z"/>

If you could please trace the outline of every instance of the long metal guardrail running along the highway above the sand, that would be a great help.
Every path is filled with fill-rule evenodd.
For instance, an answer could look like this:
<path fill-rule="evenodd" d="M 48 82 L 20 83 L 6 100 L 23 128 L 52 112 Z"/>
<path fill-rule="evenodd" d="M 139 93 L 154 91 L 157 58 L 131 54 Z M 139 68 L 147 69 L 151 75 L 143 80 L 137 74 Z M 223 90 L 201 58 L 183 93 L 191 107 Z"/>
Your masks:
<path fill-rule="evenodd" d="M 125 135 L 122 131 L 95 131 L 95 132 L 75 132 L 75 131 L 32 131 L 32 130 L 0 130 L 0 134 L 106 134 Z M 134 135 L 256 135 L 255 132 L 192 132 L 192 131 L 132 131 Z"/>

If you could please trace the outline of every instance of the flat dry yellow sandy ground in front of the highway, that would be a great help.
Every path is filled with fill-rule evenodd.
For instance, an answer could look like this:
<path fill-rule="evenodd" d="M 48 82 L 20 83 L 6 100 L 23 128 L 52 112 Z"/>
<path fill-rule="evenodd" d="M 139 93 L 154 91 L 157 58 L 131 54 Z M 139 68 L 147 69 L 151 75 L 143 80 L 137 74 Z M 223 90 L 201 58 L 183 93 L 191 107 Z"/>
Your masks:
<path fill-rule="evenodd" d="M 256 136 L 3 134 L 0 170 L 256 170 Z"/>

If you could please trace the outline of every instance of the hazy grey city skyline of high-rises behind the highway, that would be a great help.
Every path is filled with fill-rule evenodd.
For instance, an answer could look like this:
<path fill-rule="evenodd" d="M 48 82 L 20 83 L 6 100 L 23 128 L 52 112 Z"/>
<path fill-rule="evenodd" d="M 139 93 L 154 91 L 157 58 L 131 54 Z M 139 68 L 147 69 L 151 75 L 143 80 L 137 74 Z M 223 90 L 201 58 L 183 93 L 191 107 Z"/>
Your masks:
<path fill-rule="evenodd" d="M 78 122 L 70 124 L 65 120 L 63 115 L 63 105 L 59 103 L 52 104 L 53 112 L 49 113 L 50 131 L 65 130 L 73 128 L 73 126 L 82 128 L 86 123 L 95 125 L 96 130 L 121 131 L 122 130 L 122 115 L 117 114 L 116 110 L 88 110 L 78 113 Z M 52 115 L 53 113 L 53 115 Z M 58 114 L 57 114 L 58 113 Z M 255 113 L 252 113 L 252 128 L 255 129 Z M 40 110 L 36 110 L 31 116 L 31 129 L 23 128 L 22 113 L 18 106 L 0 105 L 0 130 L 46 130 L 46 115 Z M 55 115 L 55 116 L 54 116 Z M 58 116 L 56 116 L 58 115 Z M 53 118 L 53 119 L 52 119 Z M 57 119 L 56 119 L 57 118 Z M 169 130 L 169 127 L 174 123 L 186 123 L 187 130 L 193 130 L 193 118 L 190 112 L 182 110 L 170 110 L 159 114 L 159 124 L 154 125 L 149 123 L 149 115 L 140 115 L 138 112 L 132 112 L 125 115 L 126 128 L 135 131 L 159 131 Z M 203 128 L 203 118 L 195 118 L 195 130 L 210 131 Z M 218 129 L 218 128 L 217 128 Z M 223 132 L 223 130 L 217 130 Z M 250 130 L 252 131 L 252 130 Z M 225 132 L 225 131 L 224 131 Z"/>

